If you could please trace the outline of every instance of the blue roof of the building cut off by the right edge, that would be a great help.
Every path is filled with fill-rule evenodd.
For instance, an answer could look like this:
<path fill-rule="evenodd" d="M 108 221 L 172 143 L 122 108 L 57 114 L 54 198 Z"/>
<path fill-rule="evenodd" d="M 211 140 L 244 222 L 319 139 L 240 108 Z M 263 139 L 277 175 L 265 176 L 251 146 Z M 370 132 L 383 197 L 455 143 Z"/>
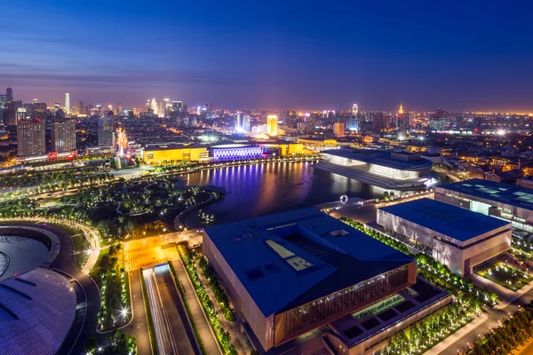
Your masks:
<path fill-rule="evenodd" d="M 533 209 L 533 190 L 516 185 L 507 185 L 495 181 L 473 178 L 458 183 L 442 185 L 436 187 L 465 193 L 489 201 L 497 201 L 521 209 Z"/>

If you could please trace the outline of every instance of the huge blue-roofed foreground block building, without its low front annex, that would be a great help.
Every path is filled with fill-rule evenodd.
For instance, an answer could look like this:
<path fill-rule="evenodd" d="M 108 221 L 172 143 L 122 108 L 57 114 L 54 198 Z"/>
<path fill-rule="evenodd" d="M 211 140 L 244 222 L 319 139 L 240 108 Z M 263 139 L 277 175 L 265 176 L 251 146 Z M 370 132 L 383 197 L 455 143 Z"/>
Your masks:
<path fill-rule="evenodd" d="M 206 227 L 203 252 L 264 350 L 416 282 L 416 264 L 317 209 Z"/>

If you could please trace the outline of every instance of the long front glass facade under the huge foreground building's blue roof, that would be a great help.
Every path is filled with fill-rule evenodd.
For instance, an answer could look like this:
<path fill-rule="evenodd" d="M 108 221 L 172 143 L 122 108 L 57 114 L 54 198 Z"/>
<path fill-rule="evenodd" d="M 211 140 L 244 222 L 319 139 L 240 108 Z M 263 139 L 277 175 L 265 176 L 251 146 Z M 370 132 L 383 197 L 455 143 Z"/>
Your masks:
<path fill-rule="evenodd" d="M 388 296 L 409 281 L 409 265 L 323 296 L 275 316 L 275 345 Z M 359 306 L 359 307 L 358 307 Z M 326 320 L 327 319 L 327 320 Z M 324 321 L 325 320 L 325 321 Z"/>

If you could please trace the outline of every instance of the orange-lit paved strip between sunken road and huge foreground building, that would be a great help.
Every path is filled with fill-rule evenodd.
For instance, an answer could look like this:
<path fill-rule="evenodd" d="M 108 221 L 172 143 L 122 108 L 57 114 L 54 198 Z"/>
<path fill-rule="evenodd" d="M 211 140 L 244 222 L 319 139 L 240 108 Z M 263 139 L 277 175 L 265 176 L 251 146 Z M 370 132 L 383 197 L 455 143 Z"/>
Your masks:
<path fill-rule="evenodd" d="M 193 315 L 193 319 L 195 319 L 196 328 L 198 329 L 198 333 L 202 339 L 205 352 L 210 355 L 220 354 L 219 344 L 211 332 L 211 327 L 205 318 L 202 305 L 195 296 L 195 289 L 187 277 L 187 272 L 185 271 L 183 264 L 181 264 L 180 260 L 173 260 L 171 263 L 174 265 L 179 283 L 184 290 L 185 299 L 187 300 L 187 304 Z"/>

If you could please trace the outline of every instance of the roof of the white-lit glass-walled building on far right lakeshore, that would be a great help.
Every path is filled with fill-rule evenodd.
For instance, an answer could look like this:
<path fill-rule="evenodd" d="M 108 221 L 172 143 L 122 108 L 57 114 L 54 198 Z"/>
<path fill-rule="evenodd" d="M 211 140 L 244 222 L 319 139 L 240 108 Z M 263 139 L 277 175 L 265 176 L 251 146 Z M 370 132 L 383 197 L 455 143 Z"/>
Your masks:
<path fill-rule="evenodd" d="M 369 164 L 378 164 L 388 168 L 397 170 L 426 170 L 433 165 L 432 162 L 426 159 L 417 159 L 411 161 L 400 161 L 393 159 L 391 154 L 414 155 L 409 152 L 395 152 L 394 150 L 379 150 L 379 149 L 328 149 L 322 151 L 322 154 L 330 154 L 340 156 L 342 158 L 353 159 L 359 162 L 367 162 Z"/>

